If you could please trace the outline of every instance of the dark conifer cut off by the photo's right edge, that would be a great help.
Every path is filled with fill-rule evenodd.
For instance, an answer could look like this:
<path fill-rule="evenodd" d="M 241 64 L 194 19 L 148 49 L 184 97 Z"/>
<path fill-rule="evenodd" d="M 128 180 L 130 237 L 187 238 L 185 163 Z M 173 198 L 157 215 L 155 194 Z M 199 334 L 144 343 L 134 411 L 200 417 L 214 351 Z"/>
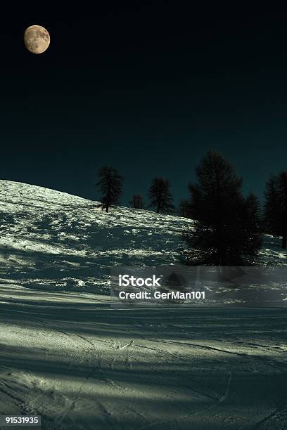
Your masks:
<path fill-rule="evenodd" d="M 282 248 L 287 243 L 287 171 L 270 176 L 265 188 L 264 226 L 267 232 L 282 236 Z"/>

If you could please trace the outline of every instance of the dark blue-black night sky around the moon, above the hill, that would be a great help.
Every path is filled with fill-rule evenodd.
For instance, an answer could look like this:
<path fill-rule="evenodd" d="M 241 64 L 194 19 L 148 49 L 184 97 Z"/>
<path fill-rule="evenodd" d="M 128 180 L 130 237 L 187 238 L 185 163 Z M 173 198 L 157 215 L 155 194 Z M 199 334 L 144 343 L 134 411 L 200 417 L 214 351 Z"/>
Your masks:
<path fill-rule="evenodd" d="M 125 176 L 122 203 L 154 176 L 178 202 L 212 148 L 262 197 L 287 169 L 286 14 L 103 3 L 2 13 L 0 177 L 96 199 L 109 164 Z M 32 24 L 51 34 L 39 56 L 23 45 Z"/>

